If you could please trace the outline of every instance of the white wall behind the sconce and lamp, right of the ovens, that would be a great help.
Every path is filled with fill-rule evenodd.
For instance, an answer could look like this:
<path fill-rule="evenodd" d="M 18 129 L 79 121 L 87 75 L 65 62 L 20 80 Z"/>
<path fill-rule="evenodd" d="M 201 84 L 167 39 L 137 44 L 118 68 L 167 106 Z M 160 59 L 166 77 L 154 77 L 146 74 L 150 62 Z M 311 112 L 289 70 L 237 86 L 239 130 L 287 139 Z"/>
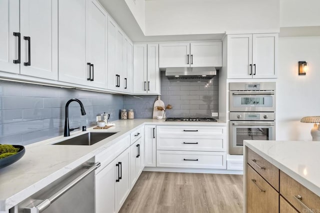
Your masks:
<path fill-rule="evenodd" d="M 297 63 L 308 62 L 306 75 L 298 75 Z M 320 115 L 320 36 L 280 37 L 276 88 L 276 140 L 312 140 L 313 124 L 304 116 Z"/>

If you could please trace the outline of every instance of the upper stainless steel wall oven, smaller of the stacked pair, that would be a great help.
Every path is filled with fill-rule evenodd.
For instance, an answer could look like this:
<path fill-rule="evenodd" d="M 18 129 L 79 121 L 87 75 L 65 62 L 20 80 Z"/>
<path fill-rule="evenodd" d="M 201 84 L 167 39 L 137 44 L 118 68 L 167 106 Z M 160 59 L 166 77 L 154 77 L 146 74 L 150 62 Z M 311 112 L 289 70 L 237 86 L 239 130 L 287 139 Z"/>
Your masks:
<path fill-rule="evenodd" d="M 275 82 L 229 83 L 230 112 L 275 112 Z"/>

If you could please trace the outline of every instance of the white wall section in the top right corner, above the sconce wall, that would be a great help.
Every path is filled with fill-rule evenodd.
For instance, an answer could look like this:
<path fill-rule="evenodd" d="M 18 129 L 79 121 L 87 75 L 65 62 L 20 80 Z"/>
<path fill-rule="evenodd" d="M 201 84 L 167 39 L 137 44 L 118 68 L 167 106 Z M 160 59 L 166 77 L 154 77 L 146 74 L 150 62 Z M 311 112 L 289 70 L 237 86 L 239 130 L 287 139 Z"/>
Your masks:
<path fill-rule="evenodd" d="M 320 26 L 320 0 L 280 0 L 280 27 Z"/>

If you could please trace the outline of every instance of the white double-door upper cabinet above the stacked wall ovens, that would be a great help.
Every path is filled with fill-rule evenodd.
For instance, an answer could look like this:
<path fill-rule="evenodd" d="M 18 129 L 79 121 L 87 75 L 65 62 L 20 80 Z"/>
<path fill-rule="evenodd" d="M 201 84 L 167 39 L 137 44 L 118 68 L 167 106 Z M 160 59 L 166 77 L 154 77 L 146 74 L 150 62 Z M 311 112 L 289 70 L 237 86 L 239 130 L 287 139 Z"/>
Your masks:
<path fill-rule="evenodd" d="M 277 43 L 277 33 L 228 35 L 228 78 L 276 78 Z"/>

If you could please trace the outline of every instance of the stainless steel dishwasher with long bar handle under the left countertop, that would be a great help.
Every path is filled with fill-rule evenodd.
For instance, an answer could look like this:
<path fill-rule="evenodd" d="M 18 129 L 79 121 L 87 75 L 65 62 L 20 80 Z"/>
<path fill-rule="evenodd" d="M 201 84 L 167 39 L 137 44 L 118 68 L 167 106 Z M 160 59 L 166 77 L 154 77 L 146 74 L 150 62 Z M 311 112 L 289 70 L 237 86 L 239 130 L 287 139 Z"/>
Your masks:
<path fill-rule="evenodd" d="M 9 213 L 94 213 L 94 159 L 11 208 Z"/>

